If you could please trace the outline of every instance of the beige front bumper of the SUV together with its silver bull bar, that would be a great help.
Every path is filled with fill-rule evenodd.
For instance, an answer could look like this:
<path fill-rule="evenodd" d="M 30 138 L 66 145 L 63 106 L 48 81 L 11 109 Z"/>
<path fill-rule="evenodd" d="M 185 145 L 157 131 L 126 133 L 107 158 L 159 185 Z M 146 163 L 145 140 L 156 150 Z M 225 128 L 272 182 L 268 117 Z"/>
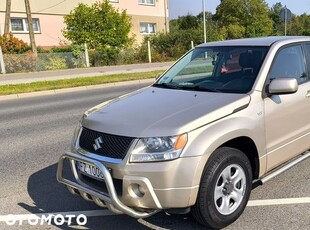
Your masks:
<path fill-rule="evenodd" d="M 71 193 L 85 200 L 134 218 L 146 218 L 161 210 L 185 209 L 194 205 L 206 160 L 198 156 L 167 162 L 127 164 L 125 159 L 122 163 L 111 164 L 102 163 L 95 157 L 93 154 L 64 154 L 59 160 L 57 180 L 65 184 Z M 99 185 L 90 183 L 89 178 L 85 180 L 77 170 L 76 162 L 97 167 L 104 180 Z M 73 175 L 71 180 L 67 179 L 69 168 Z"/>

